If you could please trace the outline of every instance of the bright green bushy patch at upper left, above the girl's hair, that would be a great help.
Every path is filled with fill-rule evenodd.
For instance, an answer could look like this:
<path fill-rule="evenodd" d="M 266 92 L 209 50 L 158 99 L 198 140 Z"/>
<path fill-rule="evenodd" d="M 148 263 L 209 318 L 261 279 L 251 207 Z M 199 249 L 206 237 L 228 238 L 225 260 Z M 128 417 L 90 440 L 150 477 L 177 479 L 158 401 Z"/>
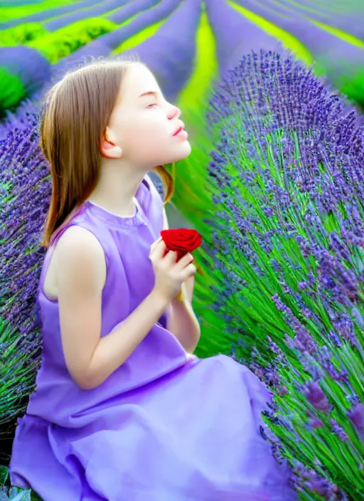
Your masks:
<path fill-rule="evenodd" d="M 55 64 L 61 58 L 69 56 L 90 41 L 115 28 L 117 28 L 116 23 L 102 17 L 94 17 L 60 28 L 26 45 L 36 48 L 51 64 Z"/>

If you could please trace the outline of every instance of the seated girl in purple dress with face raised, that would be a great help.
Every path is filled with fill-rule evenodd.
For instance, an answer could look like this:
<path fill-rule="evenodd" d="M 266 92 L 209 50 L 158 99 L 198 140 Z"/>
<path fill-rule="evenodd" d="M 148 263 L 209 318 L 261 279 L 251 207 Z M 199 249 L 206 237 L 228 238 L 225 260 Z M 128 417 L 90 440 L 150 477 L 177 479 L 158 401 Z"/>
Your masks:
<path fill-rule="evenodd" d="M 191 152 L 180 117 L 132 61 L 78 68 L 45 100 L 43 359 L 10 465 L 44 501 L 295 498 L 259 434 L 267 389 L 229 357 L 189 355 L 196 268 L 164 255 L 147 174 L 161 173 L 168 201 L 160 166 Z"/>

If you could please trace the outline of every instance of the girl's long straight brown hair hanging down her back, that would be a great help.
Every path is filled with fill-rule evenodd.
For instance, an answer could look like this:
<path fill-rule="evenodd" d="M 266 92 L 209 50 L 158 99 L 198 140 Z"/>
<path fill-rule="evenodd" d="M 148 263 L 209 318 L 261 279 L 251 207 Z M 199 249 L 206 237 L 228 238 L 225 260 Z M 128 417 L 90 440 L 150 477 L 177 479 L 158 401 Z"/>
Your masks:
<path fill-rule="evenodd" d="M 100 177 L 100 142 L 119 94 L 122 78 L 134 60 L 98 60 L 68 72 L 45 96 L 41 148 L 50 164 L 52 195 L 42 245 L 90 196 Z M 164 184 L 164 204 L 174 181 L 163 166 L 152 169 Z"/>

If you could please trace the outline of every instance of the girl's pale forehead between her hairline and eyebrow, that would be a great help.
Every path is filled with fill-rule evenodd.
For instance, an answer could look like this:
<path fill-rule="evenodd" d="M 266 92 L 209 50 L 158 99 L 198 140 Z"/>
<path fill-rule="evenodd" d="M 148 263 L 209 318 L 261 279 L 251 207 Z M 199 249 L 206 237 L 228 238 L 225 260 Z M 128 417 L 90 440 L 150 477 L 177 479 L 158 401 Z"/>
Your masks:
<path fill-rule="evenodd" d="M 146 92 L 161 92 L 151 70 L 144 65 L 130 65 L 125 72 L 120 88 L 122 100 L 135 100 Z"/>

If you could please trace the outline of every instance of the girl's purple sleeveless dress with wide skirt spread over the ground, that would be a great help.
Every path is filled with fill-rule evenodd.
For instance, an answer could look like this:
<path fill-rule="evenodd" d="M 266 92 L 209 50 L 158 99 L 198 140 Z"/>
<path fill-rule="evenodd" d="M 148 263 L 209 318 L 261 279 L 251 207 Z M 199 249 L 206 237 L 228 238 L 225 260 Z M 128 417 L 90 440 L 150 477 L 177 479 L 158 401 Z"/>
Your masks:
<path fill-rule="evenodd" d="M 134 217 L 87 201 L 68 226 L 100 241 L 107 263 L 102 336 L 154 285 L 151 243 L 163 226 L 162 199 L 149 176 Z M 270 394 L 230 357 L 188 358 L 166 329 L 166 314 L 127 362 L 95 389 L 82 390 L 65 365 L 58 302 L 43 292 L 43 359 L 26 415 L 18 419 L 12 485 L 44 501 L 288 501 L 287 468 L 259 434 Z"/>

